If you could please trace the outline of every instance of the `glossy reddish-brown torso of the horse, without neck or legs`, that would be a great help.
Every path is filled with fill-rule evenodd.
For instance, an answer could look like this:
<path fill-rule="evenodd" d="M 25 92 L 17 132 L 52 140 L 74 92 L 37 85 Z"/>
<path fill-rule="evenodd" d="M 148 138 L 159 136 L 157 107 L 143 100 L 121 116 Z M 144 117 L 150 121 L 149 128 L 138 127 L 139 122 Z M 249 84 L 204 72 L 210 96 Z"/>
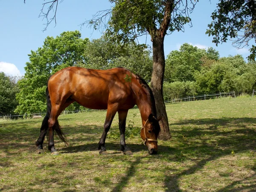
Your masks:
<path fill-rule="evenodd" d="M 55 92 L 55 100 L 71 98 L 79 104 L 92 109 L 106 109 L 108 103 L 131 102 L 132 91 L 125 80 L 129 70 L 113 68 L 93 70 L 81 67 L 67 67 L 55 73 L 48 82 L 49 92 Z M 128 101 L 129 100 L 129 101 Z"/>

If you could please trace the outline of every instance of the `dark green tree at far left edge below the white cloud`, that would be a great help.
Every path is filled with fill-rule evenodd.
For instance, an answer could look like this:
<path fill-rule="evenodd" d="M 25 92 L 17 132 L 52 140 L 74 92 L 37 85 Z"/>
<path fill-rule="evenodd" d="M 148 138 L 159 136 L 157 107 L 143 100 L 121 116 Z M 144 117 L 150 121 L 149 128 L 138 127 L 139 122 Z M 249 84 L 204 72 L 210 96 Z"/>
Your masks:
<path fill-rule="evenodd" d="M 15 98 L 19 89 L 17 83 L 12 81 L 12 77 L 6 76 L 3 72 L 0 73 L 0 113 L 13 113 L 17 106 Z"/>

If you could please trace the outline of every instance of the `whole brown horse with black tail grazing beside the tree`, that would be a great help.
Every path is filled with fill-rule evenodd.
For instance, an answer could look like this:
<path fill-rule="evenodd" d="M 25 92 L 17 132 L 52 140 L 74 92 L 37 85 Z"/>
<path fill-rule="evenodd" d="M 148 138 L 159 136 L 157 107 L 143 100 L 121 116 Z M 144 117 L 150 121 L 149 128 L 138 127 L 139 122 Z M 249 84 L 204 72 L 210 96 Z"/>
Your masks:
<path fill-rule="evenodd" d="M 52 154 L 58 154 L 54 147 L 54 131 L 67 143 L 57 118 L 71 103 L 78 102 L 90 109 L 107 109 L 99 141 L 100 154 L 106 153 L 105 140 L 116 112 L 119 116 L 121 150 L 124 154 L 132 154 L 125 144 L 125 122 L 128 110 L 134 105 L 138 106 L 142 118 L 140 136 L 149 153 L 157 153 L 160 118 L 157 119 L 154 96 L 148 84 L 131 71 L 122 67 L 110 70 L 67 67 L 49 78 L 46 94 L 47 114 L 36 142 L 39 150 L 43 149 L 44 137 L 48 133 L 48 149 Z"/>

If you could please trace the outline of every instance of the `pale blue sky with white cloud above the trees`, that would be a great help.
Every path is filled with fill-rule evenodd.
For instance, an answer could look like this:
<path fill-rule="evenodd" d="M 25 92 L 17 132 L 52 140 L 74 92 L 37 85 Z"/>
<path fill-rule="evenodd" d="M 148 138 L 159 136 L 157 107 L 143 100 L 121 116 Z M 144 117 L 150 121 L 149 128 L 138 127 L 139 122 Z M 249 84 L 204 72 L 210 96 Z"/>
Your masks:
<path fill-rule="evenodd" d="M 110 9 L 113 6 L 108 0 L 63 0 L 58 5 L 57 24 L 50 24 L 46 31 L 45 20 L 38 17 L 44 0 L 0 0 L 0 72 L 12 76 L 23 76 L 24 67 L 29 62 L 28 54 L 42 47 L 47 36 L 56 37 L 64 31 L 79 30 L 82 38 L 97 39 L 101 32 L 80 24 L 90 20 L 96 12 Z M 200 0 L 195 6 L 192 18 L 192 27 L 185 26 L 185 32 L 173 32 L 167 35 L 164 41 L 165 56 L 172 50 L 178 50 L 184 43 L 198 48 L 213 47 L 221 57 L 240 54 L 246 60 L 249 48 L 236 49 L 232 41 L 219 44 L 212 43 L 212 37 L 205 34 L 207 25 L 211 23 L 211 13 L 216 9 L 217 0 Z M 145 36 L 139 43 L 152 46 L 150 38 Z"/>

